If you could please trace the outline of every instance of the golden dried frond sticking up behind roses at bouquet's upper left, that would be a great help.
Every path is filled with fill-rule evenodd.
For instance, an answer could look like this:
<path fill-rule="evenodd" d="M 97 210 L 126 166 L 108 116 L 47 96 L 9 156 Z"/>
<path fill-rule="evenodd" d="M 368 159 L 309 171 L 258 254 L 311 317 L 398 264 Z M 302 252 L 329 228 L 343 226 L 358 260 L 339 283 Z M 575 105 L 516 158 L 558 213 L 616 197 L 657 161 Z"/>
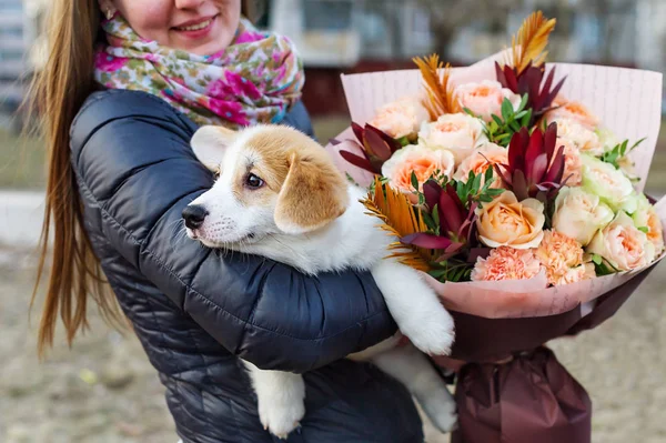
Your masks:
<path fill-rule="evenodd" d="M 440 56 L 432 54 L 425 58 L 412 59 L 421 70 L 423 83 L 427 98 L 423 104 L 427 109 L 431 120 L 437 120 L 440 115 L 456 113 L 461 111 L 458 103 L 453 97 L 453 87 L 448 84 L 451 79 L 451 64 L 440 61 Z"/>

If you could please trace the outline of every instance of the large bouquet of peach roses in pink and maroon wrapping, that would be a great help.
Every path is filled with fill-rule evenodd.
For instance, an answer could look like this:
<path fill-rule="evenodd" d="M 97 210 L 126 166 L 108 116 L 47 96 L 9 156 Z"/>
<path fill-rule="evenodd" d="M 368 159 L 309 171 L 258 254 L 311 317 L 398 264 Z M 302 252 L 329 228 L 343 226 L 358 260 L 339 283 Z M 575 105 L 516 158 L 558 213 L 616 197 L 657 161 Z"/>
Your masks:
<path fill-rule="evenodd" d="M 546 63 L 554 27 L 536 12 L 511 50 L 470 68 L 432 56 L 343 77 L 363 124 L 329 149 L 369 185 L 369 212 L 400 239 L 394 256 L 427 273 L 456 320 L 456 441 L 533 441 L 506 440 L 507 417 L 534 403 L 539 377 L 557 392 L 513 417 L 517 434 L 589 441 L 589 399 L 542 345 L 612 316 L 664 258 L 666 203 L 642 193 L 662 78 Z M 537 416 L 549 406 L 555 419 Z"/>

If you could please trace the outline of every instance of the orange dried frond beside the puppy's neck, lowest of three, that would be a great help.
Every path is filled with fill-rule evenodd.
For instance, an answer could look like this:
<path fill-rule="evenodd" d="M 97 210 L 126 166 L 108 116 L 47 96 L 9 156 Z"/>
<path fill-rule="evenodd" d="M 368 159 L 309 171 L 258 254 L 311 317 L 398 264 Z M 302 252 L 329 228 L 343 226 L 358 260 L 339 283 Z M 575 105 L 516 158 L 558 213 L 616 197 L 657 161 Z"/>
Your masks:
<path fill-rule="evenodd" d="M 396 239 L 389 246 L 392 251 L 389 258 L 395 258 L 401 263 L 420 271 L 426 272 L 431 269 L 428 263 L 434 259 L 432 251 L 407 246 L 398 240 L 408 234 L 427 231 L 425 222 L 406 195 L 382 183 L 380 178 L 375 178 L 374 194 L 369 194 L 362 203 L 367 209 L 369 215 L 374 215 L 382 221 L 380 228 L 387 235 Z"/>

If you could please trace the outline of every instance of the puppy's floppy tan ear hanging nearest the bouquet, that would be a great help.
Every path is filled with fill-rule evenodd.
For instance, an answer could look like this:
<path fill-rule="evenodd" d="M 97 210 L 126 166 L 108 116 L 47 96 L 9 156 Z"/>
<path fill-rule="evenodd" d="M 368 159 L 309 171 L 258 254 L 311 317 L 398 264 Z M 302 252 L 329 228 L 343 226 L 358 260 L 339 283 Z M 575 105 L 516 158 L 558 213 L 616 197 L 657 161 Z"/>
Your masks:
<path fill-rule="evenodd" d="M 344 213 L 349 205 L 347 183 L 325 152 L 293 153 L 289 162 L 275 205 L 275 224 L 281 231 L 314 231 Z"/>

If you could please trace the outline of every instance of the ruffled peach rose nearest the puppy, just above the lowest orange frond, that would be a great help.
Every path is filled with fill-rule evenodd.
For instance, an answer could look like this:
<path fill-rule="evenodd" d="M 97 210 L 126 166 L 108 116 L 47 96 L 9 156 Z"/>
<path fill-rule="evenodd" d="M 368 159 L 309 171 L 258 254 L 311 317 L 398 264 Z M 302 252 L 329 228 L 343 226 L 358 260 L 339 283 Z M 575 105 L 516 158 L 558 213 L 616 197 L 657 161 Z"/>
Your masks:
<path fill-rule="evenodd" d="M 382 167 L 382 175 L 389 184 L 405 193 L 414 192 L 412 171 L 416 174 L 420 190 L 436 171 L 446 177 L 453 174 L 455 160 L 451 151 L 441 149 L 432 151 L 427 148 L 411 144 L 395 153 Z"/>

